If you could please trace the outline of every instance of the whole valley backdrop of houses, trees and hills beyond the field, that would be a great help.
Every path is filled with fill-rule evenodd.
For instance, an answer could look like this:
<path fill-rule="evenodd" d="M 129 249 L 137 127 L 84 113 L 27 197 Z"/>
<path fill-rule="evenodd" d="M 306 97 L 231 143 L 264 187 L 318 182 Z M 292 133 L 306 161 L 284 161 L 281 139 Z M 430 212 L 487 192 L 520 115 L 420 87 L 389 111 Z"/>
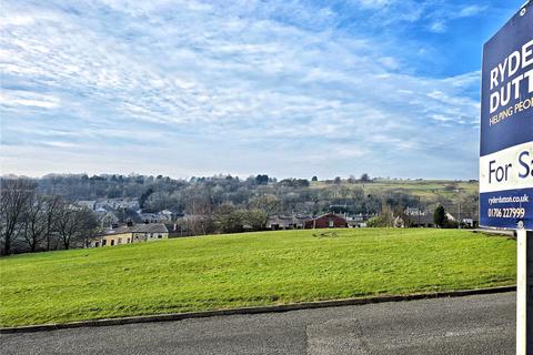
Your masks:
<path fill-rule="evenodd" d="M 2 253 L 328 227 L 475 227 L 477 181 L 3 176 Z"/>

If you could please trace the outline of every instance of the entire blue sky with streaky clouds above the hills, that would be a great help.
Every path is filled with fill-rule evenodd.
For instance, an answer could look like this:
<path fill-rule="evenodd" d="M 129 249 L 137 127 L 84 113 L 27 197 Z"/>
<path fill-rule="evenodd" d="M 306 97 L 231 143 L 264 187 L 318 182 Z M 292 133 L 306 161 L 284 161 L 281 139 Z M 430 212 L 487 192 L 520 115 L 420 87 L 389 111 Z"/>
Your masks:
<path fill-rule="evenodd" d="M 4 0 L 1 174 L 477 179 L 522 3 Z"/>

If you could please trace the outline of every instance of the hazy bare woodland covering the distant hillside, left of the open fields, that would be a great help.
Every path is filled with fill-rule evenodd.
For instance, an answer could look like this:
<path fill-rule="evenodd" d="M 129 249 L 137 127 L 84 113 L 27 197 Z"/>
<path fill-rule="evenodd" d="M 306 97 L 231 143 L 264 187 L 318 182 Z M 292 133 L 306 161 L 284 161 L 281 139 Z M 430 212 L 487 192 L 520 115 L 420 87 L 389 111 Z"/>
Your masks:
<path fill-rule="evenodd" d="M 272 195 L 279 200 L 278 213 L 318 214 L 328 211 L 330 205 L 344 204 L 351 213 L 375 213 L 380 210 L 382 196 L 364 194 L 362 189 L 346 187 L 348 184 L 371 182 L 368 174 L 360 179 L 340 176 L 324 180 L 324 189 L 311 189 L 318 178 L 278 180 L 266 174 L 245 179 L 232 175 L 190 179 L 171 179 L 163 175 L 120 175 L 50 174 L 36 180 L 38 190 L 44 195 L 59 195 L 70 202 L 130 197 L 138 199 L 144 212 L 164 209 L 194 214 L 205 210 L 205 204 L 218 207 L 232 204 L 248 209 L 260 195 Z M 395 200 L 398 196 L 393 196 Z"/>

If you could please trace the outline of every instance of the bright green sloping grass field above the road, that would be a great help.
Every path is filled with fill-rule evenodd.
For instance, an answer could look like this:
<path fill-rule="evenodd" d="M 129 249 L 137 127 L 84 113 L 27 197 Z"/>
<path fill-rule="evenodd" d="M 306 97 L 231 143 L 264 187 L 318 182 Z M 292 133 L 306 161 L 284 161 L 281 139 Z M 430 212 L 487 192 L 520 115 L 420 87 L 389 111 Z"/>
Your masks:
<path fill-rule="evenodd" d="M 514 284 L 515 242 L 456 230 L 284 231 L 0 260 L 1 326 Z"/>

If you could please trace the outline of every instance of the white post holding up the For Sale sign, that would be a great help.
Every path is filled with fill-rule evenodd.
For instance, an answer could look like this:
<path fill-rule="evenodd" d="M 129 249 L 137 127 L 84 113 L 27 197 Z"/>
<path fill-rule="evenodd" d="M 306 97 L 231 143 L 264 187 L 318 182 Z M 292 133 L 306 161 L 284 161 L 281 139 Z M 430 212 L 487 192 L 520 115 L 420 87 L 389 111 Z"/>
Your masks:
<path fill-rule="evenodd" d="M 516 233 L 516 355 L 533 354 L 533 232 Z"/>

